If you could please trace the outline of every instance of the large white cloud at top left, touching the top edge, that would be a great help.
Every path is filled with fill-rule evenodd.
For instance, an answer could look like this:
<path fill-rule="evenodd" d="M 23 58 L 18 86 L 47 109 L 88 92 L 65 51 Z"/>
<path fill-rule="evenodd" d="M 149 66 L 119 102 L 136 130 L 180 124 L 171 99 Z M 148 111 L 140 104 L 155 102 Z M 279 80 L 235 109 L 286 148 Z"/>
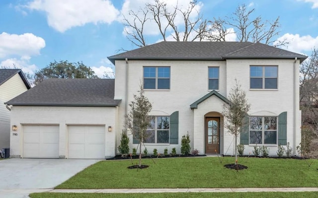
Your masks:
<path fill-rule="evenodd" d="M 23 7 L 44 11 L 49 26 L 59 32 L 86 23 L 110 24 L 119 14 L 110 0 L 32 0 Z"/>

